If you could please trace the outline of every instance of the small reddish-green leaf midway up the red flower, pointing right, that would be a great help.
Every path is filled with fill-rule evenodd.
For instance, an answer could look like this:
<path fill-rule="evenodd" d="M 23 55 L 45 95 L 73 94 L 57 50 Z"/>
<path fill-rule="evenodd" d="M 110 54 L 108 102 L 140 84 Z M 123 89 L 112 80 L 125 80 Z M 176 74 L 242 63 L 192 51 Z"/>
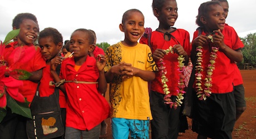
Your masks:
<path fill-rule="evenodd" d="M 9 75 L 15 78 L 16 80 L 27 80 L 32 76 L 32 74 L 28 71 L 25 71 L 23 69 L 13 69 L 9 72 Z"/>

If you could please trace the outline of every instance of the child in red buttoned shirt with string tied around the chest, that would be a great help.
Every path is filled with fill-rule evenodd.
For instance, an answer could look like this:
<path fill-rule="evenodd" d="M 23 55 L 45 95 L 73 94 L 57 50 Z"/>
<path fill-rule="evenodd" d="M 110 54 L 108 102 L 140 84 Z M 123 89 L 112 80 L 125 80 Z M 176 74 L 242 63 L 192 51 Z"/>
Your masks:
<path fill-rule="evenodd" d="M 100 123 L 109 116 L 109 104 L 101 95 L 107 90 L 103 68 L 105 57 L 90 57 L 94 35 L 88 29 L 76 29 L 70 37 L 73 57 L 55 57 L 51 73 L 56 82 L 64 82 L 67 94 L 65 138 L 99 138 Z M 61 63 L 60 78 L 56 65 Z M 98 84 L 97 84 L 98 83 Z"/>

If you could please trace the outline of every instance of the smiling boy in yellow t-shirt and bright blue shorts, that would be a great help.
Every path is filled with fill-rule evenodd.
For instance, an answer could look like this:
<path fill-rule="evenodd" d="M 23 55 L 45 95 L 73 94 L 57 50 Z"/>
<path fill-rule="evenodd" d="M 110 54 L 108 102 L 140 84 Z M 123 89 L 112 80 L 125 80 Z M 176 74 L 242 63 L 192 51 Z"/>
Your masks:
<path fill-rule="evenodd" d="M 144 16 L 138 9 L 124 12 L 120 31 L 124 41 L 107 48 L 104 68 L 110 83 L 113 138 L 149 138 L 152 119 L 147 81 L 155 77 L 151 49 L 138 43 L 144 33 Z"/>

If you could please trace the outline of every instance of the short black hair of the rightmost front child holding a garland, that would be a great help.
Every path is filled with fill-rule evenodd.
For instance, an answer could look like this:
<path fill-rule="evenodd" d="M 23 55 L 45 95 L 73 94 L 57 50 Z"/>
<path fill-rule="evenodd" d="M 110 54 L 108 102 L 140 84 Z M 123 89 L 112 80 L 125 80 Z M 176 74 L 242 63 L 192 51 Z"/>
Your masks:
<path fill-rule="evenodd" d="M 200 7 L 198 8 L 198 15 L 196 16 L 196 24 L 199 27 L 204 27 L 204 24 L 201 22 L 200 18 L 202 16 L 204 17 L 209 17 L 208 13 L 212 10 L 210 6 L 218 4 L 220 5 L 219 1 L 208 1 L 208 2 L 204 2 L 200 5 Z"/>

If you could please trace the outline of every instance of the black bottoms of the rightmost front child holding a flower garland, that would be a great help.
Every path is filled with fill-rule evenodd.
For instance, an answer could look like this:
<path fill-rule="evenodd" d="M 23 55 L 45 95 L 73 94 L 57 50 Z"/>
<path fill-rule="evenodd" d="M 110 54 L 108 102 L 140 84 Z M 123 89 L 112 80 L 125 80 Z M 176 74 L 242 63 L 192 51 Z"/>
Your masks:
<path fill-rule="evenodd" d="M 232 92 L 212 93 L 206 101 L 197 98 L 193 108 L 192 131 L 210 138 L 232 138 L 235 112 L 235 97 Z"/>

